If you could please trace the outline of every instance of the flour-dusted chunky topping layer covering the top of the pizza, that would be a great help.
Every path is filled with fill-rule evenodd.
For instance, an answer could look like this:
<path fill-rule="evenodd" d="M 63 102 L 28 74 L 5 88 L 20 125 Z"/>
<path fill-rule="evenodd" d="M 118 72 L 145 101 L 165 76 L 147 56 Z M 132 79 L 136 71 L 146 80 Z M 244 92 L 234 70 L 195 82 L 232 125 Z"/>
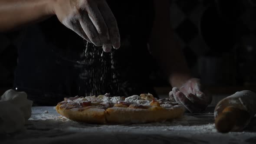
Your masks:
<path fill-rule="evenodd" d="M 153 107 L 172 108 L 177 105 L 176 102 L 170 101 L 169 98 L 163 98 L 157 100 L 151 94 L 132 95 L 128 98 L 125 97 L 109 97 L 110 94 L 98 95 L 98 97 L 87 96 L 87 97 L 71 97 L 64 98 L 65 101 L 60 102 L 62 108 L 86 108 L 89 106 L 102 106 L 102 108 L 111 107 L 122 107 L 122 108 L 141 108 L 147 109 Z"/>

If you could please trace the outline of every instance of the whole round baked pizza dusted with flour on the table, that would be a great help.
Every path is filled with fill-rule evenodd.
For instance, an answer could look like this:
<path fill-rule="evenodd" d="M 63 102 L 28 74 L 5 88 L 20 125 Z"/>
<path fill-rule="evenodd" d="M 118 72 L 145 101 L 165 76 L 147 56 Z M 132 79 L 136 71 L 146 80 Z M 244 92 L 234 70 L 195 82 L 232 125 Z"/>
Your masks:
<path fill-rule="evenodd" d="M 64 98 L 56 111 L 73 121 L 92 124 L 127 124 L 169 121 L 184 114 L 185 108 L 169 98 L 151 94 L 130 97 L 98 96 Z"/>

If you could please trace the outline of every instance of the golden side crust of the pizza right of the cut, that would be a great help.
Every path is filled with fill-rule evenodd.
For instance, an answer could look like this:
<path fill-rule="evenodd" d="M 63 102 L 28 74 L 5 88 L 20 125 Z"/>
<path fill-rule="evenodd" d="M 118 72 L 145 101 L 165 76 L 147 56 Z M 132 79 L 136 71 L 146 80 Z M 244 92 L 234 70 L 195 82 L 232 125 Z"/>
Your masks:
<path fill-rule="evenodd" d="M 113 107 L 106 110 L 105 116 L 108 123 L 147 123 L 170 121 L 182 116 L 184 111 L 181 105 L 172 108 L 154 107 L 150 109 Z"/>

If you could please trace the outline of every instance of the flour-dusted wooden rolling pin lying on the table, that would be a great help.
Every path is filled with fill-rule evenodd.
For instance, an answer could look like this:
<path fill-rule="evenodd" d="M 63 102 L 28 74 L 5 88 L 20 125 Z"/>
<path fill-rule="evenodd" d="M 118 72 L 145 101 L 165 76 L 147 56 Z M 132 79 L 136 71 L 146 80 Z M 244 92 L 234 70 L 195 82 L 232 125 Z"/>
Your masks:
<path fill-rule="evenodd" d="M 256 114 L 256 94 L 236 92 L 222 99 L 215 107 L 215 127 L 219 132 L 242 131 Z"/>

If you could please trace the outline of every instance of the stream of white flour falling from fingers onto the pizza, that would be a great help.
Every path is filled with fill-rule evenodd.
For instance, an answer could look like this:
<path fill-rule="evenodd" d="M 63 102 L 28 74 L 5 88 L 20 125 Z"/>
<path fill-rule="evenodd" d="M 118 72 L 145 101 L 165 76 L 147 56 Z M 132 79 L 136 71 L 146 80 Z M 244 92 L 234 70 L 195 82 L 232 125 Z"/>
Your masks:
<path fill-rule="evenodd" d="M 103 49 L 92 43 L 85 43 L 83 52 L 84 63 L 87 63 L 81 75 L 85 75 L 85 95 L 102 95 L 105 93 L 119 93 L 117 70 L 115 69 L 114 50 L 103 52 Z"/>

